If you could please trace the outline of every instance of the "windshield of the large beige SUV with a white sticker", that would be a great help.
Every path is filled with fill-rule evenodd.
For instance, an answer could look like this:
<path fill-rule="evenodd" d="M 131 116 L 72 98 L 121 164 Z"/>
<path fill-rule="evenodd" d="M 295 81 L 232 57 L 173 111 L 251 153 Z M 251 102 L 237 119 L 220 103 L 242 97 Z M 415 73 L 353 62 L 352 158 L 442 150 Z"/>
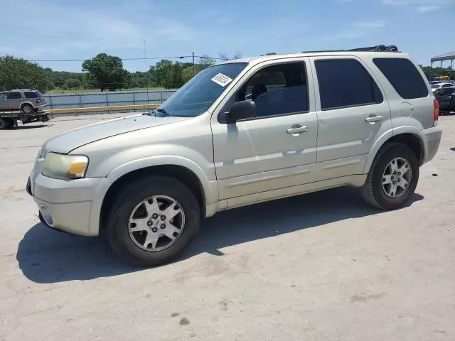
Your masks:
<path fill-rule="evenodd" d="M 160 109 L 169 116 L 196 117 L 215 102 L 246 66 L 246 63 L 229 63 L 208 67 L 183 85 Z"/>

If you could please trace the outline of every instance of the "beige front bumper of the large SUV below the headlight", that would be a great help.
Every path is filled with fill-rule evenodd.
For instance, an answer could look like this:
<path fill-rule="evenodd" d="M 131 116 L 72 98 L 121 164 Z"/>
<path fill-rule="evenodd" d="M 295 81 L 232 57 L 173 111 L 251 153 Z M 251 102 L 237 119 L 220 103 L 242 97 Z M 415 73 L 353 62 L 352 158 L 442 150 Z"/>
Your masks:
<path fill-rule="evenodd" d="M 112 180 L 107 178 L 48 178 L 41 175 L 38 161 L 26 187 L 46 225 L 73 234 L 96 236 L 102 200 L 111 184 Z"/>

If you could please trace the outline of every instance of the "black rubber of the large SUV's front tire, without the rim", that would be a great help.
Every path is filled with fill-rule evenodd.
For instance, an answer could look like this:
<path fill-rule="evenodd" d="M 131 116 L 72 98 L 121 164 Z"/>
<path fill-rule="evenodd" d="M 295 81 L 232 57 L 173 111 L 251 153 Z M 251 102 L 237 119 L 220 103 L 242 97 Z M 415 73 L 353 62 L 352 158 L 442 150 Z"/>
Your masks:
<path fill-rule="evenodd" d="M 129 217 L 137 205 L 153 195 L 166 195 L 177 200 L 185 214 L 183 232 L 174 244 L 161 251 L 146 251 L 134 244 L 129 235 Z M 191 243 L 200 225 L 200 207 L 186 185 L 166 176 L 150 176 L 127 185 L 117 193 L 109 211 L 106 234 L 112 249 L 137 266 L 166 264 L 180 256 Z"/>

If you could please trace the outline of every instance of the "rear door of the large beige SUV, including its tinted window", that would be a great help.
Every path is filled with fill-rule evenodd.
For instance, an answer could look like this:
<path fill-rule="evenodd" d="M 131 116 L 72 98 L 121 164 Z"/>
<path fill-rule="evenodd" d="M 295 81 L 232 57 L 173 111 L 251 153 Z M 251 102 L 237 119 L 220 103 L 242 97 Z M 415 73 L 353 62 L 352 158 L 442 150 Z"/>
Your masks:
<path fill-rule="evenodd" d="M 375 141 L 392 127 L 385 95 L 355 56 L 314 57 L 311 67 L 316 75 L 321 178 L 360 174 Z"/>

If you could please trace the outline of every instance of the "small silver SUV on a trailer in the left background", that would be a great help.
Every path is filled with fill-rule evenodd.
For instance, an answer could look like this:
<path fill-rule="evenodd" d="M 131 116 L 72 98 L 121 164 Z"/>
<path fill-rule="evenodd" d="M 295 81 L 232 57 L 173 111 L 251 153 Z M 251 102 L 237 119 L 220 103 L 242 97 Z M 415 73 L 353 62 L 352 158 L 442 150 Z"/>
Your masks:
<path fill-rule="evenodd" d="M 43 94 L 37 90 L 12 90 L 0 92 L 0 112 L 18 112 L 33 114 L 44 109 Z"/>

